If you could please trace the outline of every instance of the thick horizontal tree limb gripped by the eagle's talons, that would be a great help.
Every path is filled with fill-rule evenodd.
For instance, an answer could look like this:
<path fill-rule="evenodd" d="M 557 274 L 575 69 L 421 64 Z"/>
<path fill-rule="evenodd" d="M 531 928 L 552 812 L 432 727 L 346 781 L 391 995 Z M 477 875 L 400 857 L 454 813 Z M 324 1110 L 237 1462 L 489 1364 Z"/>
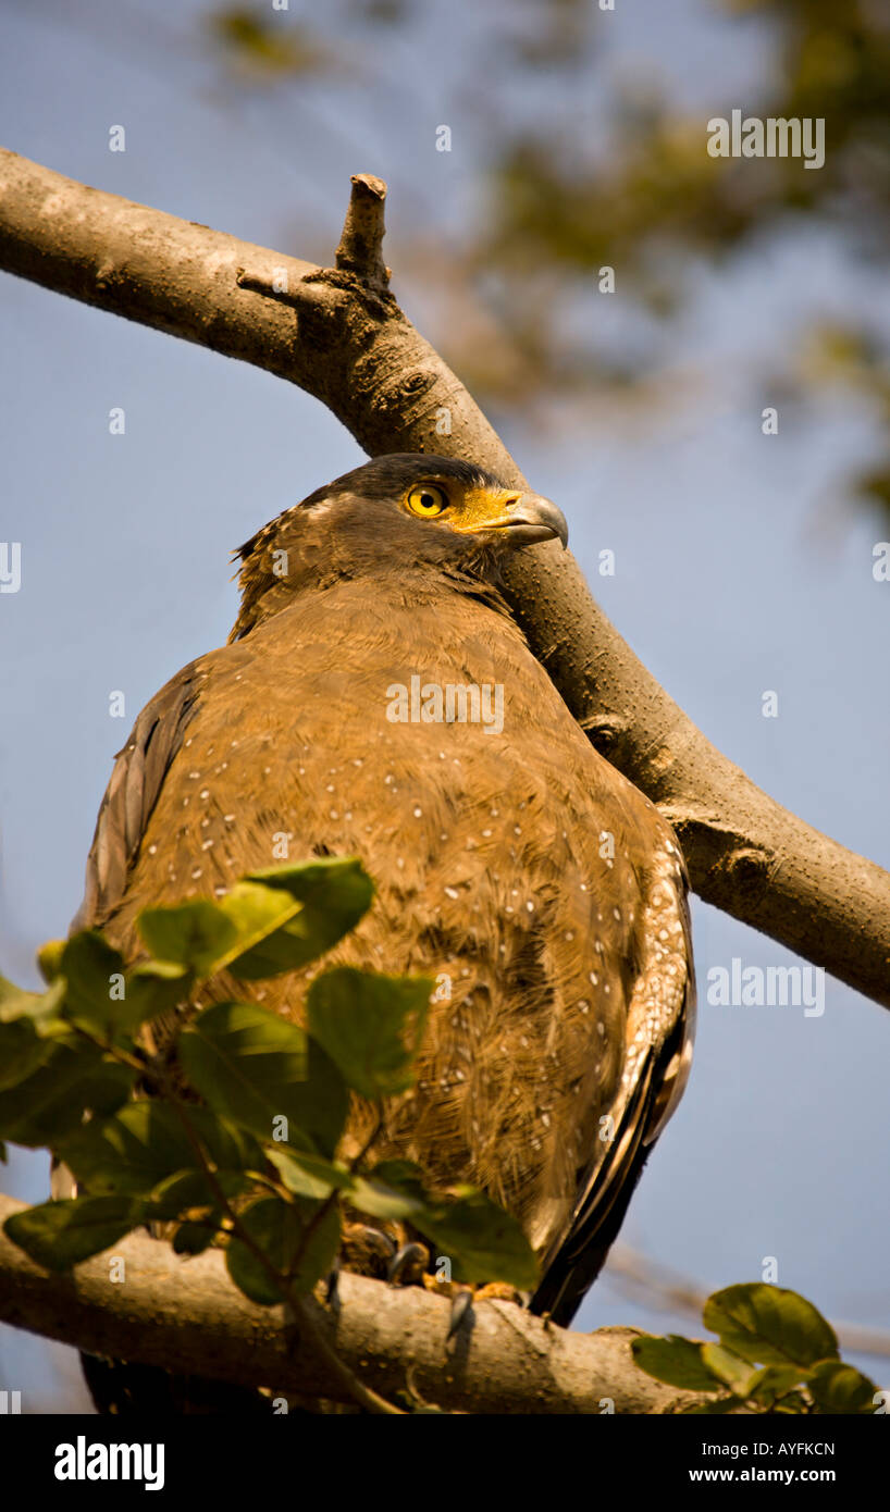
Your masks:
<path fill-rule="evenodd" d="M 219 1250 L 179 1259 L 170 1244 L 130 1234 L 115 1244 L 126 1279 L 109 1281 L 109 1255 L 48 1275 L 3 1234 L 23 1210 L 0 1196 L 0 1321 L 147 1365 L 282 1396 L 350 1400 L 301 1349 L 282 1308 L 260 1308 L 235 1290 Z M 112 1252 L 109 1252 L 112 1253 Z M 645 1376 L 631 1361 L 633 1329 L 569 1334 L 545 1328 L 509 1302 L 480 1302 L 472 1343 L 447 1353 L 450 1306 L 419 1287 L 341 1276 L 341 1306 L 315 1303 L 318 1325 L 339 1358 L 368 1385 L 462 1412 L 678 1412 L 698 1397 Z"/>

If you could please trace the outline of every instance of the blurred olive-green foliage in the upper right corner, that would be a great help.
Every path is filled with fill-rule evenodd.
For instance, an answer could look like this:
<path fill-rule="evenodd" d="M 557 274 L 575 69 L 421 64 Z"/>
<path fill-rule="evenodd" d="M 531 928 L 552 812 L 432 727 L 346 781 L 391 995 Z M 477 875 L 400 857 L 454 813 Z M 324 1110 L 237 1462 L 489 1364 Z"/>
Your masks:
<path fill-rule="evenodd" d="M 866 0 L 731 0 L 727 9 L 776 27 L 775 83 L 745 113 L 823 116 L 825 166 L 708 157 L 701 110 L 686 116 L 625 92 L 604 162 L 586 163 L 577 130 L 519 133 L 503 145 L 484 257 L 521 271 L 539 260 L 568 271 L 618 263 L 639 277 L 652 240 L 716 256 L 786 212 L 832 216 L 887 257 L 890 9 Z"/>

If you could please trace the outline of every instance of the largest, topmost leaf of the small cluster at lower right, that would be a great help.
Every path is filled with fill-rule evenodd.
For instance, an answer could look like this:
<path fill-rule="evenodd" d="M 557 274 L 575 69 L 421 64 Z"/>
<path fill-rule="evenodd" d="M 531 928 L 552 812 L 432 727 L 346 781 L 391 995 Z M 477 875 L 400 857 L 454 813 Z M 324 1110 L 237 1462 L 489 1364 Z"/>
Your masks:
<path fill-rule="evenodd" d="M 755 1281 L 714 1291 L 704 1306 L 704 1323 L 720 1344 L 763 1365 L 813 1365 L 837 1359 L 834 1331 L 811 1302 Z"/>

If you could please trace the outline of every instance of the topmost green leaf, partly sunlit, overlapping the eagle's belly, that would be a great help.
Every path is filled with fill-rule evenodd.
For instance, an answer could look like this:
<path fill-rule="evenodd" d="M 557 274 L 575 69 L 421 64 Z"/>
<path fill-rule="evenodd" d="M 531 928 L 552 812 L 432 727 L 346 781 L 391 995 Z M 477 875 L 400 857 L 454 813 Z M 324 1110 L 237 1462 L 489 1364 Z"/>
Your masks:
<path fill-rule="evenodd" d="M 331 950 L 354 930 L 374 897 L 374 883 L 354 857 L 330 856 L 297 866 L 269 866 L 251 871 L 250 881 L 280 888 L 303 904 L 301 912 L 275 939 L 286 965 L 279 971 L 295 971 Z M 241 969 L 241 966 L 239 966 Z"/>

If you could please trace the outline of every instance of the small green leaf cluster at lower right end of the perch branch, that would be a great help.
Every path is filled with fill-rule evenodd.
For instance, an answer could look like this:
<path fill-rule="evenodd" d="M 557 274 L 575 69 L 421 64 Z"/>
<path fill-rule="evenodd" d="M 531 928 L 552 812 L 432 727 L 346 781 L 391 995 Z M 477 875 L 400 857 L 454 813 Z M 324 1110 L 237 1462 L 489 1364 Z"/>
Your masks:
<path fill-rule="evenodd" d="M 834 1329 L 796 1291 L 746 1282 L 714 1291 L 702 1321 L 719 1343 L 678 1334 L 633 1341 L 640 1370 L 683 1391 L 710 1393 L 693 1414 L 873 1415 L 885 1393 L 837 1352 Z"/>

